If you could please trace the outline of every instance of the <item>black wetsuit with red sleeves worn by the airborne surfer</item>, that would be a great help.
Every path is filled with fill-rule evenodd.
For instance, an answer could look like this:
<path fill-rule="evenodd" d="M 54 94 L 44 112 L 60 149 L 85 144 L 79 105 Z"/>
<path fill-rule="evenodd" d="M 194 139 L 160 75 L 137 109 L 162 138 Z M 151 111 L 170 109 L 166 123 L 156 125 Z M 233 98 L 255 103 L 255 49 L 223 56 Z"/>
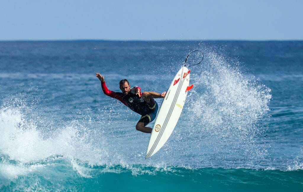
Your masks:
<path fill-rule="evenodd" d="M 148 123 L 152 122 L 157 115 L 158 104 L 154 98 L 150 98 L 149 102 L 146 102 L 142 97 L 138 97 L 136 92 L 140 89 L 140 96 L 142 96 L 141 88 L 139 86 L 135 86 L 131 89 L 130 93 L 124 95 L 121 92 L 114 92 L 108 90 L 105 81 L 101 82 L 103 93 L 112 98 L 118 99 L 124 105 L 126 105 L 129 109 L 133 110 L 136 113 L 141 115 L 141 118 L 138 122 L 143 122 L 144 126 Z"/>

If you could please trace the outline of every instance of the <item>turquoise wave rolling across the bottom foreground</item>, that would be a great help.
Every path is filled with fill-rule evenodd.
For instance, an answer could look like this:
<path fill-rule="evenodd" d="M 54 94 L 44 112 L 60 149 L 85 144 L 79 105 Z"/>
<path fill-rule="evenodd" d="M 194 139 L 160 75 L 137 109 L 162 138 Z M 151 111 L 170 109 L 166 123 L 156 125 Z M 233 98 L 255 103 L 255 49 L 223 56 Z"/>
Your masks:
<path fill-rule="evenodd" d="M 1 191 L 300 191 L 303 170 L 153 167 L 142 164 L 89 165 L 64 156 L 32 163 L 1 156 Z"/>

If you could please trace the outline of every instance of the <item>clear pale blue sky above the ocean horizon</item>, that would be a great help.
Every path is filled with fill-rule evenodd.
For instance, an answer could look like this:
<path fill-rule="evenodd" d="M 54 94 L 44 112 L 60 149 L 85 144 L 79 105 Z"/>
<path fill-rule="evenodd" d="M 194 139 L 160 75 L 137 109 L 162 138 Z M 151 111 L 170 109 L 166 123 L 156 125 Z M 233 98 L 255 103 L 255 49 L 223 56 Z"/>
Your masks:
<path fill-rule="evenodd" d="M 0 0 L 9 40 L 303 40 L 303 1 Z"/>

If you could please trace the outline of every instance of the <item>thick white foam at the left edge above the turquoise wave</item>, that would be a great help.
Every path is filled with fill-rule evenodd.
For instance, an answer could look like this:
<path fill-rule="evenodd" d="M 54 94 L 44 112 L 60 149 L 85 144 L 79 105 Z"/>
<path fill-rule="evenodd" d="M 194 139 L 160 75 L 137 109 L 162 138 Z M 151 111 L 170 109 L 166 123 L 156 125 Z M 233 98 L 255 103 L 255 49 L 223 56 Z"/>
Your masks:
<path fill-rule="evenodd" d="M 0 109 L 1 153 L 22 163 L 37 162 L 54 155 L 87 161 L 89 164 L 104 163 L 107 149 L 94 145 L 94 142 L 99 142 L 101 145 L 98 146 L 102 146 L 103 142 L 102 136 L 97 137 L 94 131 L 77 121 L 56 129 L 56 132 L 48 132 L 44 130 L 45 127 L 39 128 L 35 120 L 26 119 L 20 107 Z M 97 138 L 100 141 L 94 141 Z"/>

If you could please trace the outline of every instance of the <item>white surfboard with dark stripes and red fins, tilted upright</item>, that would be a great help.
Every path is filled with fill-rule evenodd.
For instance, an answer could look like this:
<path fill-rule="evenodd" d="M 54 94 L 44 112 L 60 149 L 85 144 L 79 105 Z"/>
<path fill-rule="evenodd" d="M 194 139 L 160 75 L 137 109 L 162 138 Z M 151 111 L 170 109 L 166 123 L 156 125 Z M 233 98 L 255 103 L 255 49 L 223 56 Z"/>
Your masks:
<path fill-rule="evenodd" d="M 188 86 L 189 73 L 190 70 L 187 67 L 181 67 L 171 82 L 157 114 L 145 159 L 159 151 L 175 129 L 185 103 L 187 92 L 193 86 Z"/>

